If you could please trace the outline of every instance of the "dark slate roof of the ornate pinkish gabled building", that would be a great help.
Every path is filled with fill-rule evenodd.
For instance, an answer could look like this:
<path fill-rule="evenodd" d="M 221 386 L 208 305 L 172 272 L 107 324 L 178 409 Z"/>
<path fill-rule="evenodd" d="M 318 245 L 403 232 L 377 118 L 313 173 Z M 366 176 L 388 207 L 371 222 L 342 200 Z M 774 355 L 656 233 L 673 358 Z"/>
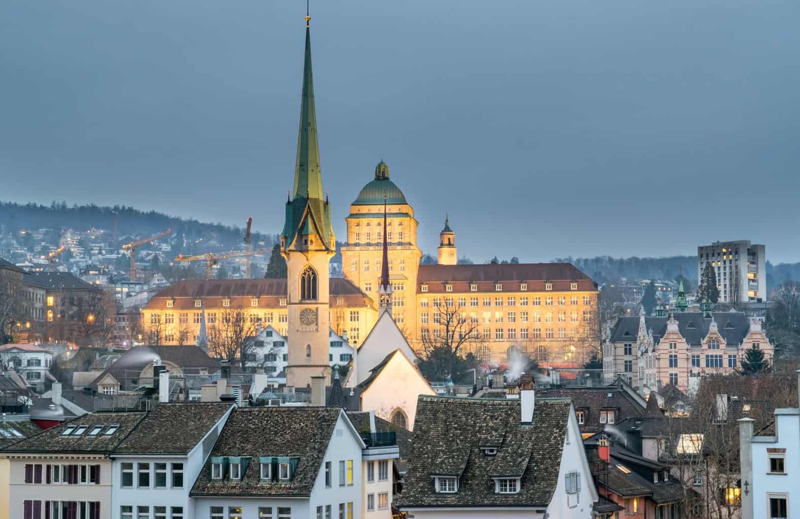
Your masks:
<path fill-rule="evenodd" d="M 704 319 L 702 312 L 676 312 L 672 314 L 678 321 L 678 331 L 686 342 L 692 346 L 700 345 L 708 335 L 710 319 Z M 750 330 L 750 319 L 742 312 L 714 312 L 717 331 L 725 339 L 726 344 L 740 345 Z M 666 333 L 668 317 L 645 317 L 647 330 L 652 330 L 656 343 Z M 620 317 L 611 330 L 612 342 L 636 341 L 639 330 L 639 317 Z"/>

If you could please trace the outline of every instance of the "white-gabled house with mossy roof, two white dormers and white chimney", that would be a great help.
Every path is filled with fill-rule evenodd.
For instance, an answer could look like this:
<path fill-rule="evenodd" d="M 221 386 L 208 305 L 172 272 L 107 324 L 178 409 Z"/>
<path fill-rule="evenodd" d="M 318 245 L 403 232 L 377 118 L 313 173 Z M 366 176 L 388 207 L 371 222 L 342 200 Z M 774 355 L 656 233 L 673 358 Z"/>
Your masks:
<path fill-rule="evenodd" d="M 419 397 L 401 512 L 440 517 L 593 517 L 597 489 L 567 398 Z"/>

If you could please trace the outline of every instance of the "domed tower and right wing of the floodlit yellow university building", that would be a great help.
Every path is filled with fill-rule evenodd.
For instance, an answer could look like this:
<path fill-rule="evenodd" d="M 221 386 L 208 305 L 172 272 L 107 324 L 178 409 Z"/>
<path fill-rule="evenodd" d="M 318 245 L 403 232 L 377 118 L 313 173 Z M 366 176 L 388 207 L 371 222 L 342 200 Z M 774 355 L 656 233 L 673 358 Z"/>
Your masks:
<path fill-rule="evenodd" d="M 386 238 L 392 315 L 415 348 L 450 334 L 454 341 L 466 336 L 464 351 L 483 361 L 506 361 L 518 349 L 555 363 L 583 362 L 587 345 L 598 348 L 598 289 L 574 265 L 457 265 L 449 218 L 439 234 L 438 265 L 420 265 L 414 209 L 385 162 L 350 204 L 346 222 L 342 270 L 374 301 Z"/>

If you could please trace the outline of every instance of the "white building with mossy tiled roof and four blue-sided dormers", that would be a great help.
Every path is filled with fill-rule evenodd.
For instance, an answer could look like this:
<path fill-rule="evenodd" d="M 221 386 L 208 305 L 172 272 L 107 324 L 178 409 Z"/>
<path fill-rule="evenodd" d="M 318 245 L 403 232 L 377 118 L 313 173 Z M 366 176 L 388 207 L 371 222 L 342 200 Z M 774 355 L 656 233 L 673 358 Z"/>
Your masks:
<path fill-rule="evenodd" d="M 190 491 L 194 517 L 361 517 L 364 449 L 338 407 L 234 409 Z"/>

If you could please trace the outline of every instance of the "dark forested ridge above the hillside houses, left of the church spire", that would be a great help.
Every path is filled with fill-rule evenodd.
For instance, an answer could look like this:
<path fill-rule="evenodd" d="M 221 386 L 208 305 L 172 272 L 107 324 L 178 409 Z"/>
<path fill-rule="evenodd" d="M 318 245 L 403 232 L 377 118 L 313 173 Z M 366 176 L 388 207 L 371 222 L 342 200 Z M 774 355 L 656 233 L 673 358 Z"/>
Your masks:
<path fill-rule="evenodd" d="M 183 236 L 188 242 L 213 239 L 220 249 L 234 249 L 242 246 L 244 225 L 224 226 L 221 223 L 204 223 L 194 219 L 178 218 L 156 211 L 141 211 L 128 206 L 67 206 L 66 202 L 53 202 L 50 206 L 28 203 L 0 202 L 0 223 L 6 226 L 6 233 L 18 230 L 52 229 L 59 230 L 114 230 L 116 215 L 117 236 L 142 238 L 158 234 L 166 229 L 172 230 L 173 237 Z M 58 234 L 57 234 L 58 235 Z M 272 246 L 274 234 L 253 233 L 252 243 Z"/>

